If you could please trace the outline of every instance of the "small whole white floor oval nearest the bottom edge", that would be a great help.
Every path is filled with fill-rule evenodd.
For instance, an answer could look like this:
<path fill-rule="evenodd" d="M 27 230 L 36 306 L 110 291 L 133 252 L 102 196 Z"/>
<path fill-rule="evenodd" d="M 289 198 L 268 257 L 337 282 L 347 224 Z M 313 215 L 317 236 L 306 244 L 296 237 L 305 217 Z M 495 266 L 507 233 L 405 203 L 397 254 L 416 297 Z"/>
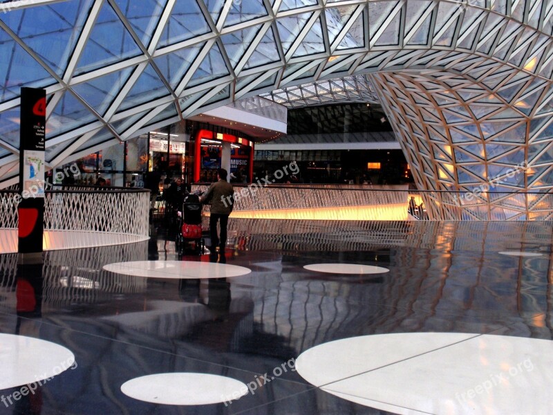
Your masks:
<path fill-rule="evenodd" d="M 176 373 L 155 374 L 131 379 L 121 385 L 131 398 L 164 405 L 206 405 L 238 399 L 247 386 L 225 376 Z"/>

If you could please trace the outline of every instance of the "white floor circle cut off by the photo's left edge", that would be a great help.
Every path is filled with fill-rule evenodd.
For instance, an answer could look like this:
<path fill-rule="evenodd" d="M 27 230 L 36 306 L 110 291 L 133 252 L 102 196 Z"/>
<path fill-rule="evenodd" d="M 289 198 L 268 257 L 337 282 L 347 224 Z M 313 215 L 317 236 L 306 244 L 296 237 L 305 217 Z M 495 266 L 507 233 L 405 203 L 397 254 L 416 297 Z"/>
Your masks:
<path fill-rule="evenodd" d="M 0 333 L 0 390 L 59 375 L 74 362 L 73 353 L 59 344 Z"/>

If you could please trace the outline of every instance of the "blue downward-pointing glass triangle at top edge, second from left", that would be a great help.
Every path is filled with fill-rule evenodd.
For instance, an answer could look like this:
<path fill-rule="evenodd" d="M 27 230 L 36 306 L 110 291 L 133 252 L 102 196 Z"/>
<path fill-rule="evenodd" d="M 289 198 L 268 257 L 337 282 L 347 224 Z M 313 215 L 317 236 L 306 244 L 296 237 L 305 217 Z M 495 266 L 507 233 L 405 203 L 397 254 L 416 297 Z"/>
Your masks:
<path fill-rule="evenodd" d="M 115 0 L 115 3 L 133 26 L 133 30 L 140 37 L 142 44 L 147 48 L 165 9 L 165 1 L 144 0 L 138 4 L 131 0 Z"/>

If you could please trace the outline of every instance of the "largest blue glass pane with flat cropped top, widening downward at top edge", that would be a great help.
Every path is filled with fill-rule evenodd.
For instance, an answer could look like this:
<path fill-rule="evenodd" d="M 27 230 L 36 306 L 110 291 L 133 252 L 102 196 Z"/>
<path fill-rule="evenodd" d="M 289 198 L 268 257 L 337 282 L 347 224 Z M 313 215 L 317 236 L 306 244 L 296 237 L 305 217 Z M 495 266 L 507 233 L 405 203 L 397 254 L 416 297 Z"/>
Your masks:
<path fill-rule="evenodd" d="M 210 31 L 196 0 L 175 1 L 171 17 L 167 21 L 158 48 L 203 35 Z"/>

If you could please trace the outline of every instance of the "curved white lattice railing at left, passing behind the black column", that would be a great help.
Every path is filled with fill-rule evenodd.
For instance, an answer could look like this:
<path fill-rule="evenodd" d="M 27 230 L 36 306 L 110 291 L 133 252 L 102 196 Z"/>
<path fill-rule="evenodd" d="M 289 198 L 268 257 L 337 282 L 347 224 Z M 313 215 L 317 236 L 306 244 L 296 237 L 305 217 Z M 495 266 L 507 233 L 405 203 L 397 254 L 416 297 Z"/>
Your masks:
<path fill-rule="evenodd" d="M 148 238 L 148 190 L 125 187 L 79 187 L 46 190 L 46 249 L 84 248 L 132 243 Z M 17 251 L 15 190 L 0 191 L 0 253 Z"/>

